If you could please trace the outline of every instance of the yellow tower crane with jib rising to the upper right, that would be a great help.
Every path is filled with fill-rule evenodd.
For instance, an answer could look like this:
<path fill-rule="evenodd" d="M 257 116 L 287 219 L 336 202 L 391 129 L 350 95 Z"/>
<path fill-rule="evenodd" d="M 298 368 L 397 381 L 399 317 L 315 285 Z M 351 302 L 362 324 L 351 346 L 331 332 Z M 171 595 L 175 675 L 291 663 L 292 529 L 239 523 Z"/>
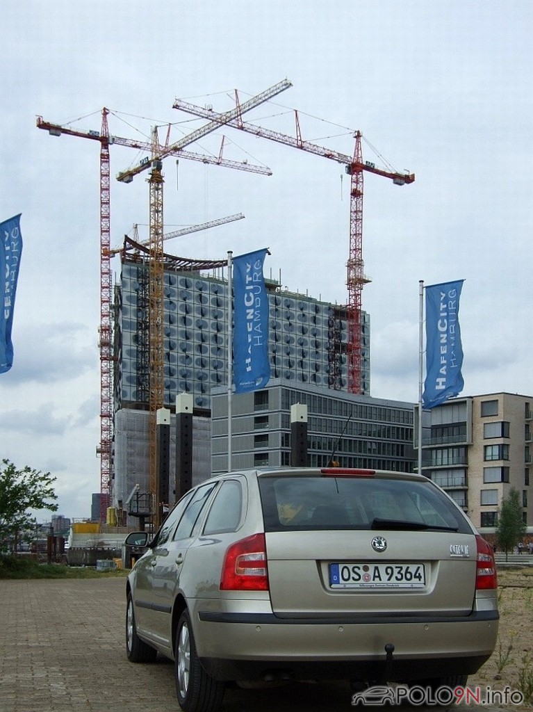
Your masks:
<path fill-rule="evenodd" d="M 159 526 L 164 503 L 159 498 L 157 476 L 157 411 L 164 407 L 164 372 L 163 372 L 163 174 L 162 161 L 201 137 L 215 131 L 221 125 L 236 120 L 242 121 L 245 112 L 265 103 L 292 86 L 285 79 L 236 107 L 217 116 L 179 141 L 159 149 L 157 127 L 152 133 L 152 156 L 143 159 L 137 166 L 120 172 L 117 180 L 130 183 L 135 175 L 149 169 L 149 490 L 152 498 L 152 525 Z M 237 96 L 237 95 L 236 95 Z"/>

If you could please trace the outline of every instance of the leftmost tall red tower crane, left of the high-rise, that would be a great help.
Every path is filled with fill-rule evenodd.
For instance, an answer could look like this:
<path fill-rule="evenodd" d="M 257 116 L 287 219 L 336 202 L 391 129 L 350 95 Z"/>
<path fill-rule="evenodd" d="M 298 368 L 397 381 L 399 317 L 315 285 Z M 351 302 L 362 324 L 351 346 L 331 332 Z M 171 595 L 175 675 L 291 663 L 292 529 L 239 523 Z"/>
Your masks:
<path fill-rule="evenodd" d="M 36 119 L 37 128 L 48 131 L 51 136 L 76 136 L 96 141 L 100 144 L 100 325 L 98 328 L 100 350 L 100 443 L 97 455 L 100 456 L 100 519 L 105 521 L 106 510 L 110 500 L 112 473 L 112 343 L 111 343 L 111 256 L 110 251 L 110 145 L 127 146 L 137 150 L 153 151 L 150 142 L 112 136 L 109 133 L 107 116 L 109 110 L 102 109 L 102 124 L 100 131 L 76 130 L 69 126 L 45 121 L 42 116 Z M 222 149 L 218 157 L 201 155 L 184 151 L 181 148 L 169 149 L 168 145 L 157 147 L 157 150 L 167 152 L 180 158 L 213 164 L 225 168 L 243 170 L 264 175 L 272 175 L 272 171 L 263 166 L 248 162 L 232 161 L 222 157 Z"/>

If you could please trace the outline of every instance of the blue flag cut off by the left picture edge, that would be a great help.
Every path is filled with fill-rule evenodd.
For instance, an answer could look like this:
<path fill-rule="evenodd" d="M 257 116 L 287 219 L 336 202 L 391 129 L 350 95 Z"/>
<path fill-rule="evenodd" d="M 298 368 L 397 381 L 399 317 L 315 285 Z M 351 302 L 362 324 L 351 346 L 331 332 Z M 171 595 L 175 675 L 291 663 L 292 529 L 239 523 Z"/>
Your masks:
<path fill-rule="evenodd" d="M 13 365 L 11 327 L 22 253 L 20 224 L 20 214 L 0 223 L 0 278 L 3 293 L 0 315 L 0 373 L 9 371 Z"/>

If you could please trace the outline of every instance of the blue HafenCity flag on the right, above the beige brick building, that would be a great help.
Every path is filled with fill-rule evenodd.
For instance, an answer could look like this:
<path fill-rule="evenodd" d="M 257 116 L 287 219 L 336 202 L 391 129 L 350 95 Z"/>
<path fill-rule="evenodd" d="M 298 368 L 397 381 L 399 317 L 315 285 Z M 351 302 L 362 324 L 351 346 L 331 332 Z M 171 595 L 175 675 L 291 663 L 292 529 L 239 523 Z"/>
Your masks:
<path fill-rule="evenodd" d="M 463 346 L 459 328 L 459 299 L 464 280 L 426 287 L 426 409 L 458 395 L 465 385 L 461 375 Z"/>

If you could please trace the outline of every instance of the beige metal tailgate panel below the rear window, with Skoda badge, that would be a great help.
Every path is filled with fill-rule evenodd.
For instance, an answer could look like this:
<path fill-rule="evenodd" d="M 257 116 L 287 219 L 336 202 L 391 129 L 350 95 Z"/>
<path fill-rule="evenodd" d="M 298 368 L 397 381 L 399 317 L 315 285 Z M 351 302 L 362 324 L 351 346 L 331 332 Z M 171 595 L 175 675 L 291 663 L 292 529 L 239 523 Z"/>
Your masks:
<path fill-rule="evenodd" d="M 379 553 L 372 548 L 376 538 L 386 547 Z M 275 614 L 282 617 L 461 616 L 473 607 L 477 559 L 473 535 L 390 530 L 270 532 L 266 547 L 270 600 Z M 350 579 L 339 587 L 330 584 L 332 563 L 344 566 L 344 579 Z"/>

